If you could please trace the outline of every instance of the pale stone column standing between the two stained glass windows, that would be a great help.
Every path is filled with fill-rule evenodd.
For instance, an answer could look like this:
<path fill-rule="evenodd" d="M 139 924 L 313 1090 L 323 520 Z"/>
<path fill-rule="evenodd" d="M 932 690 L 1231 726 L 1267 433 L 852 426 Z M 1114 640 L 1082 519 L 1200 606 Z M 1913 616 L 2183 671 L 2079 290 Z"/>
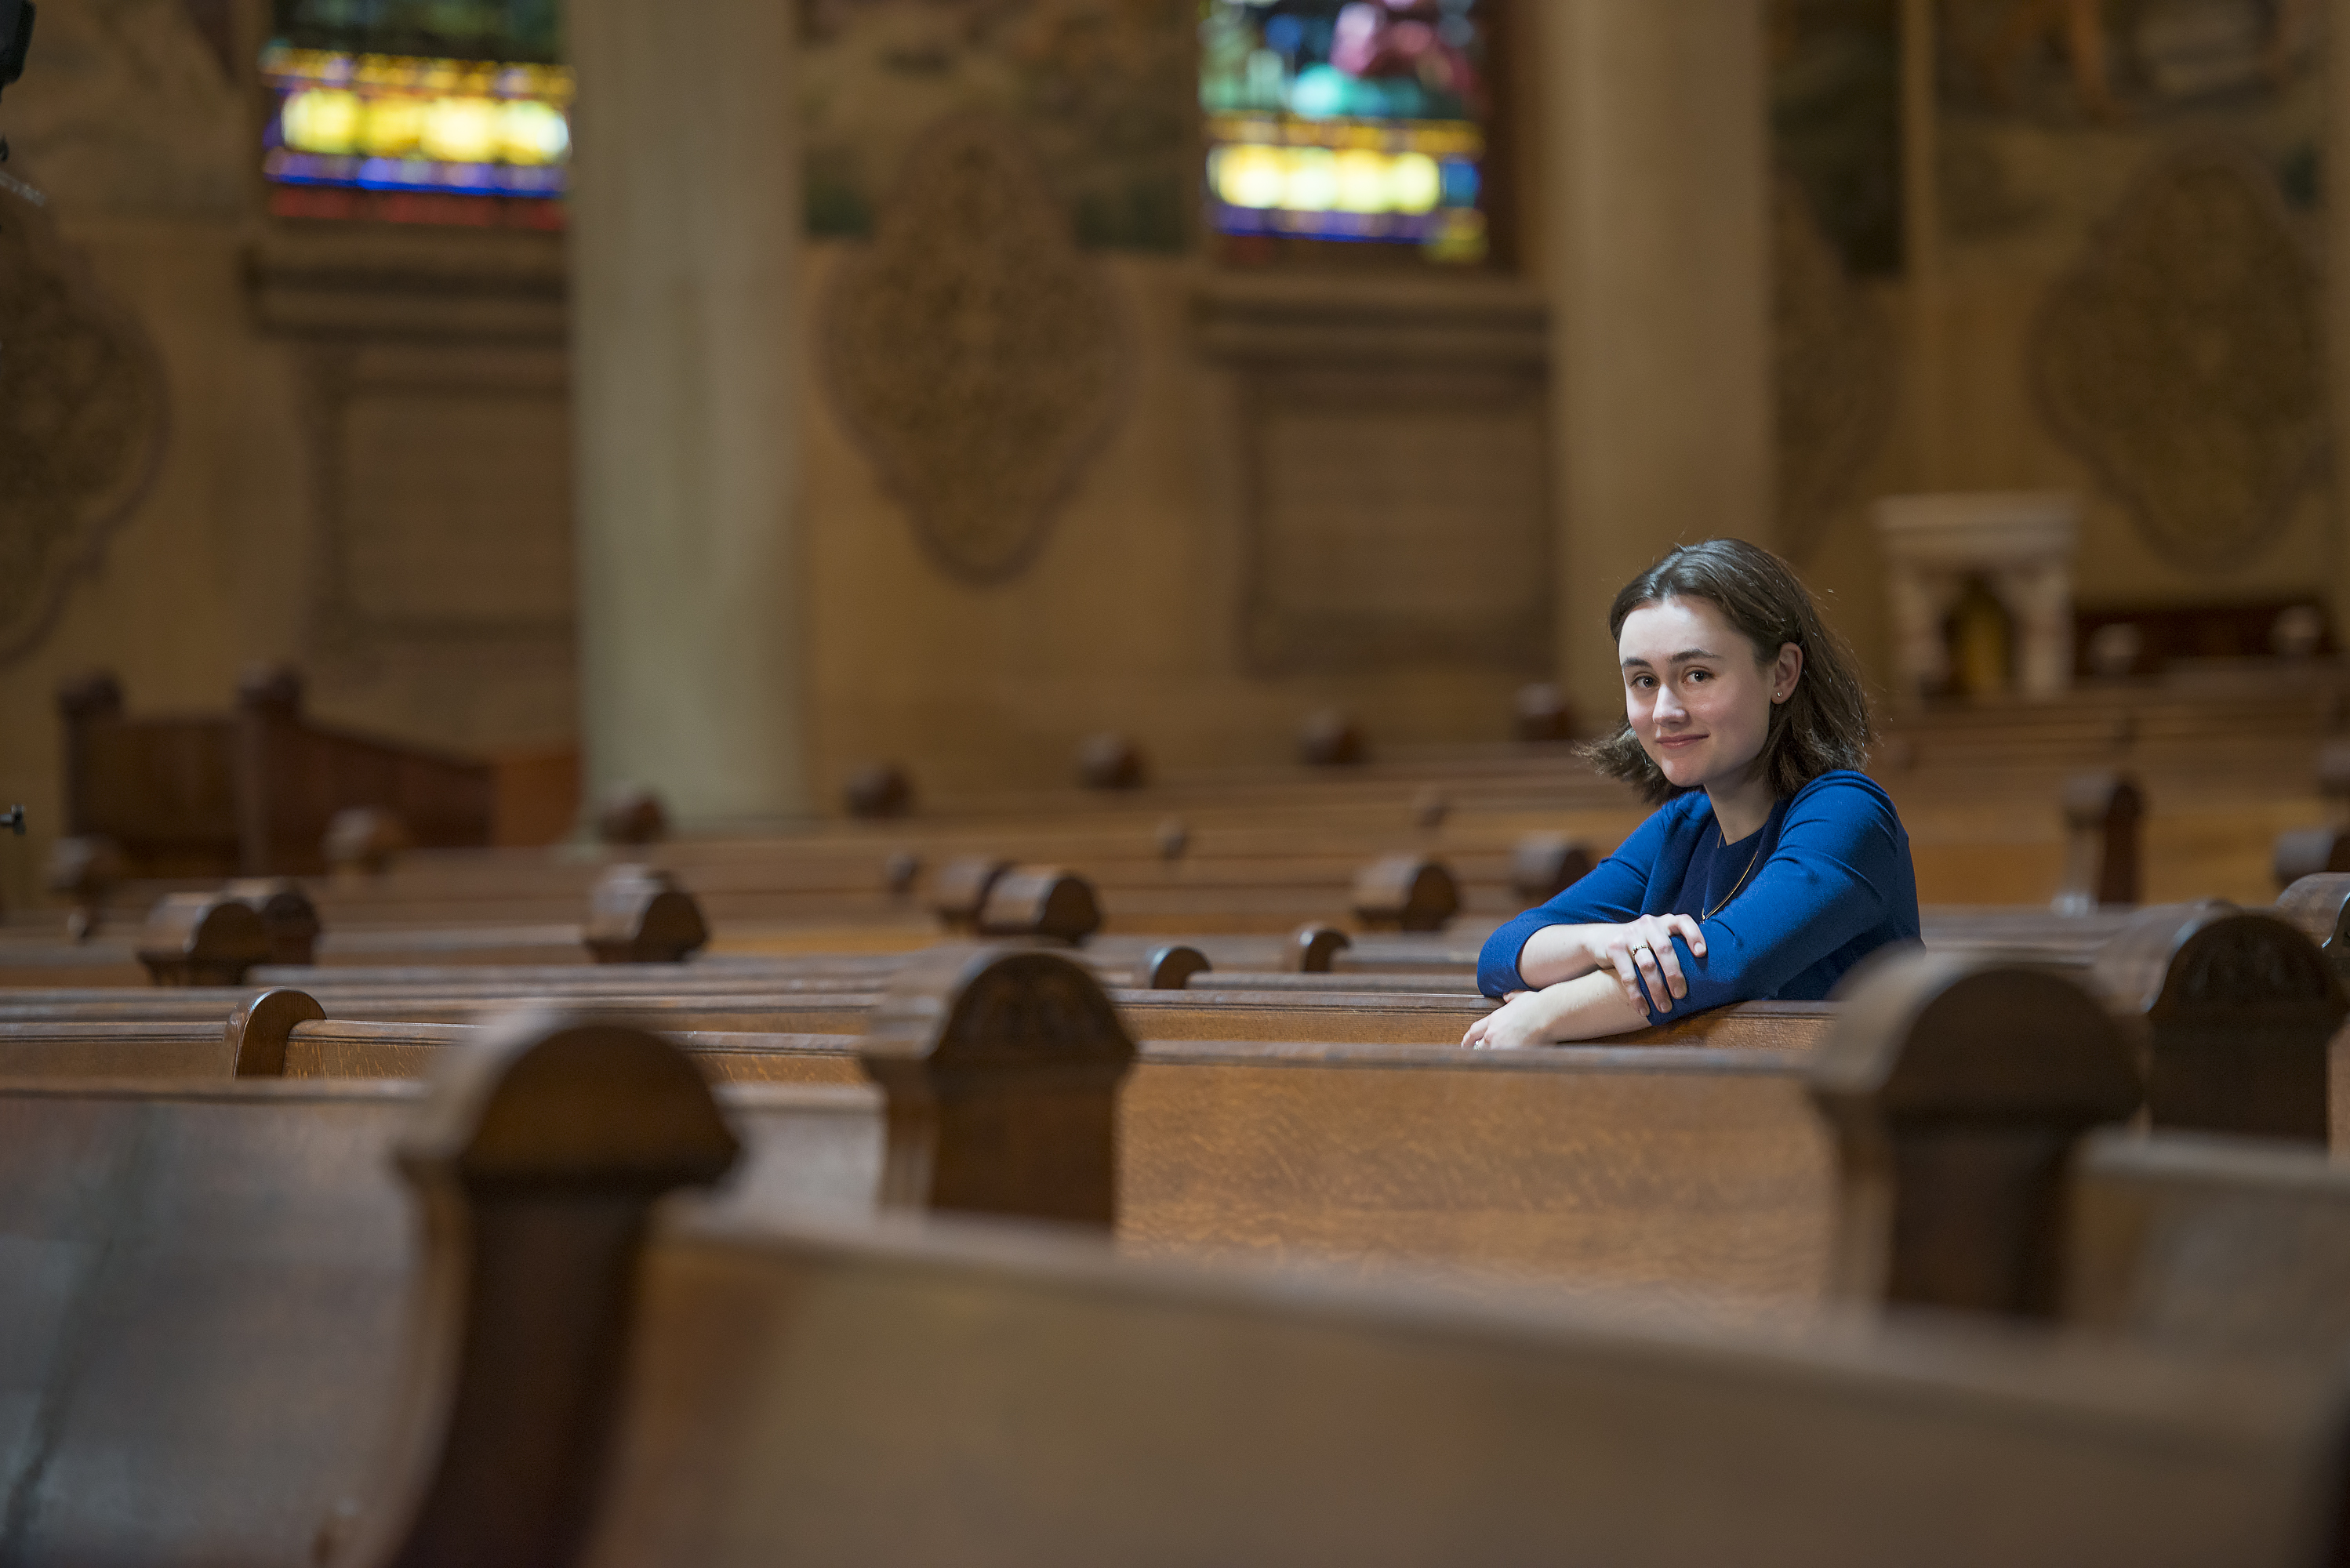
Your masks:
<path fill-rule="evenodd" d="M 689 827 L 811 799 L 794 16 L 566 0 L 585 773 Z"/>

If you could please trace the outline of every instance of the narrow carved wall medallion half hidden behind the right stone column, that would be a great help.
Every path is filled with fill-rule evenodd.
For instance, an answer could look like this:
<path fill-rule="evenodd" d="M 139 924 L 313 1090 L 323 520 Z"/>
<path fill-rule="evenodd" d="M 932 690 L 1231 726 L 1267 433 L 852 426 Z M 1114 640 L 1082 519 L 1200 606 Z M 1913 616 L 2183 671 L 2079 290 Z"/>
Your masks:
<path fill-rule="evenodd" d="M 1779 541 L 1802 559 L 1885 440 L 1894 355 L 1810 200 L 1786 179 L 1772 209 L 1772 369 Z"/>

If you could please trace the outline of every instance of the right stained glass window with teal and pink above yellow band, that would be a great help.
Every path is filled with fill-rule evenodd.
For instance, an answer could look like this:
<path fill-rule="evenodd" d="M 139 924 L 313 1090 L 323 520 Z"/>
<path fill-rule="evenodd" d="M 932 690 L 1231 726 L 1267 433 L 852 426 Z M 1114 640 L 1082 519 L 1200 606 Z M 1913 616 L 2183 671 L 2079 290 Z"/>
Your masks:
<path fill-rule="evenodd" d="M 1488 252 L 1495 0 L 1206 0 L 1208 226 Z"/>

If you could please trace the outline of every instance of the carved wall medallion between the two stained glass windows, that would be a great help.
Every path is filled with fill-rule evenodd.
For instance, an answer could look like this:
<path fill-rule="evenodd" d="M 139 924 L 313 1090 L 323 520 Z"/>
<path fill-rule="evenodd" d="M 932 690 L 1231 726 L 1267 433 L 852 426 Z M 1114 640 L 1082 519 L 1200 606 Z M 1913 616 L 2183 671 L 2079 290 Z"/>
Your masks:
<path fill-rule="evenodd" d="M 931 555 L 1020 574 L 1116 425 L 1126 320 L 1003 120 L 954 115 L 907 158 L 825 301 L 825 383 Z"/>

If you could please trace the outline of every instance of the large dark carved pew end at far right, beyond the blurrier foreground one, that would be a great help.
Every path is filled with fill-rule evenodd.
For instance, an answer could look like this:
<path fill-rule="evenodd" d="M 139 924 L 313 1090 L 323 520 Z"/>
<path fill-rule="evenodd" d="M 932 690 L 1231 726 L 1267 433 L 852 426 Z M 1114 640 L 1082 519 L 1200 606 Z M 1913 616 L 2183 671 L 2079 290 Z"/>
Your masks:
<path fill-rule="evenodd" d="M 2157 1128 L 2326 1143 L 2326 1058 L 2350 997 L 2289 919 L 2225 903 L 2146 910 L 2092 973 L 2143 1023 Z"/>

